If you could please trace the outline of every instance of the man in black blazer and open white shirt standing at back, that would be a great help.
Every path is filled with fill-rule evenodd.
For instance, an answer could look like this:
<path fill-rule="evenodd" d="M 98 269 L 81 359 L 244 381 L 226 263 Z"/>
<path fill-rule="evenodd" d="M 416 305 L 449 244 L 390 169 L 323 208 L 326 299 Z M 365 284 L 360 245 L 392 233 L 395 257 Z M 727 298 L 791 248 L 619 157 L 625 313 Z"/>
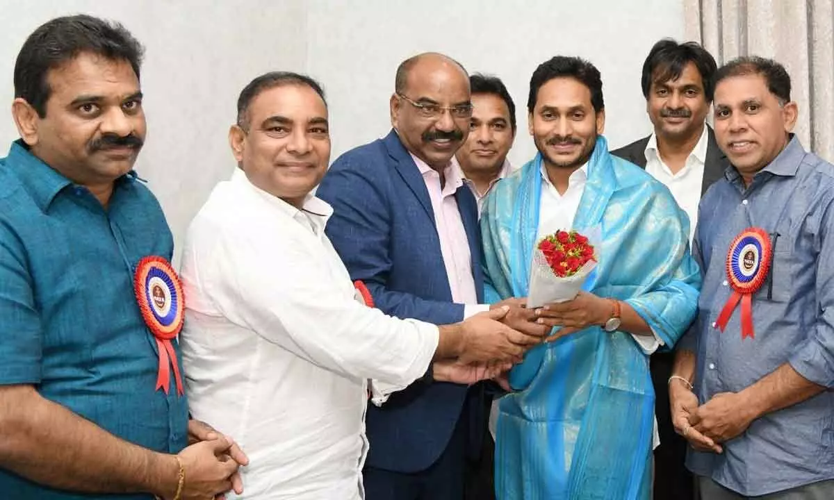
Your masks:
<path fill-rule="evenodd" d="M 706 124 L 712 102 L 716 61 L 695 42 L 664 39 L 651 48 L 643 64 L 642 90 L 646 112 L 655 131 L 611 153 L 645 168 L 666 184 L 690 218 L 695 233 L 698 202 L 729 166 Z M 673 353 L 665 346 L 651 356 L 657 427 L 661 444 L 655 449 L 655 500 L 694 497 L 692 475 L 686 470 L 686 440 L 671 423 L 668 383 Z"/>

